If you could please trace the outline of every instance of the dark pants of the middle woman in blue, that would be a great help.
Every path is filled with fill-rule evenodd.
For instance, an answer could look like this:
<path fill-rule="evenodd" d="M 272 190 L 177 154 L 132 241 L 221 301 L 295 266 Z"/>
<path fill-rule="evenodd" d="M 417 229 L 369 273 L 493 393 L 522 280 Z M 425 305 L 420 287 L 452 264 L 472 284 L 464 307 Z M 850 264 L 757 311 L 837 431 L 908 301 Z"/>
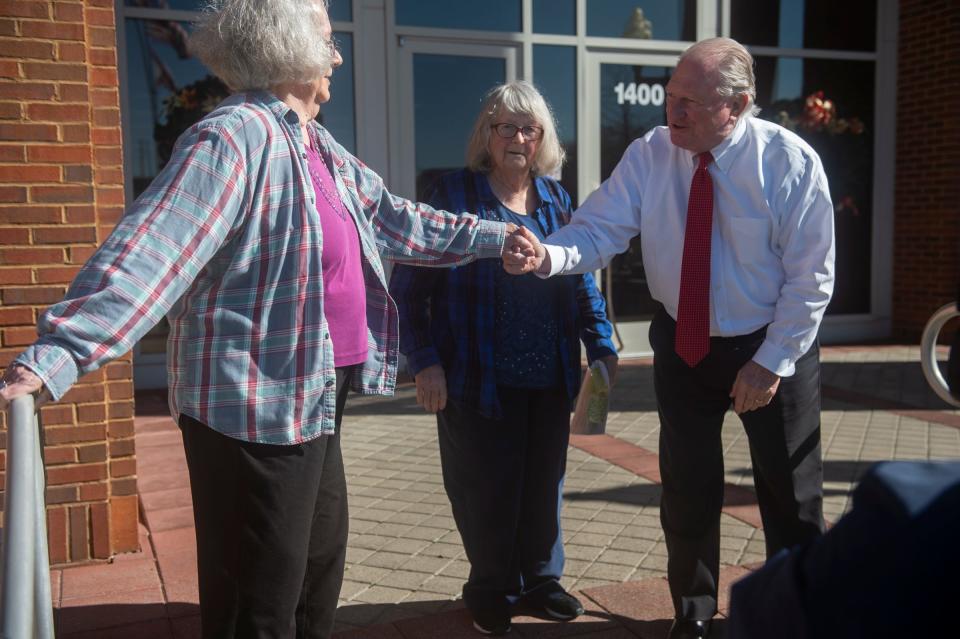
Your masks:
<path fill-rule="evenodd" d="M 570 400 L 560 388 L 499 389 L 503 419 L 448 400 L 437 415 L 443 484 L 470 560 L 463 600 L 503 610 L 563 574 L 560 505 Z"/>

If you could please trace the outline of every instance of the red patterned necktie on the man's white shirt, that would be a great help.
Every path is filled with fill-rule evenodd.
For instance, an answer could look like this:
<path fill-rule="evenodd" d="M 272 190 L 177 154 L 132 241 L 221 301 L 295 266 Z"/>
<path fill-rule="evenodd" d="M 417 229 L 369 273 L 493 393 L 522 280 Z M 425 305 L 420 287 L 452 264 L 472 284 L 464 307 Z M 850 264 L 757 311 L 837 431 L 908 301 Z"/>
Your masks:
<path fill-rule="evenodd" d="M 713 161 L 701 153 L 690 183 L 687 230 L 680 269 L 680 303 L 674 349 L 691 368 L 710 352 L 710 229 L 713 226 L 713 180 L 707 167 Z"/>

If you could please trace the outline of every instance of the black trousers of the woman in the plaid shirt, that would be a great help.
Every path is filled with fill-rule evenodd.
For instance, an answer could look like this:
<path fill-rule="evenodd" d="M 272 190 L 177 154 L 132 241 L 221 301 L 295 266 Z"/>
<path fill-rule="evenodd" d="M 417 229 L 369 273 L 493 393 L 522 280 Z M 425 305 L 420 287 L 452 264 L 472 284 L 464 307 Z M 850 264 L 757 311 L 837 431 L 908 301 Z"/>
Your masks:
<path fill-rule="evenodd" d="M 204 639 L 333 632 L 348 528 L 339 427 L 353 370 L 337 369 L 337 433 L 303 444 L 244 442 L 180 416 Z"/>

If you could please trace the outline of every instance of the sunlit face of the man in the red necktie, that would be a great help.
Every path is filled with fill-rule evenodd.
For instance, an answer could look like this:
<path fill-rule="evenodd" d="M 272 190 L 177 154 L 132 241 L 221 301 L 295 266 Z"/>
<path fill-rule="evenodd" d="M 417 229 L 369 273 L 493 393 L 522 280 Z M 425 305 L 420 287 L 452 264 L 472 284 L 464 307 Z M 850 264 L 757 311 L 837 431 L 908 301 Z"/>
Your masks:
<path fill-rule="evenodd" d="M 733 131 L 746 98 L 717 94 L 716 64 L 686 58 L 667 83 L 667 125 L 670 141 L 703 153 Z"/>

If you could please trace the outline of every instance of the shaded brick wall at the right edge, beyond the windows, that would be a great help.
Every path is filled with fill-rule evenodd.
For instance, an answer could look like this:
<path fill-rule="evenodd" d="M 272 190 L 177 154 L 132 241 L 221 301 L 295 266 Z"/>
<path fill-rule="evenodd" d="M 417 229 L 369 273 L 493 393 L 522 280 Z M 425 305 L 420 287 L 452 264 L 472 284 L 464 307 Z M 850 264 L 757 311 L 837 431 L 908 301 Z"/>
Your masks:
<path fill-rule="evenodd" d="M 899 44 L 893 326 L 916 342 L 960 284 L 960 4 L 902 0 Z"/>

